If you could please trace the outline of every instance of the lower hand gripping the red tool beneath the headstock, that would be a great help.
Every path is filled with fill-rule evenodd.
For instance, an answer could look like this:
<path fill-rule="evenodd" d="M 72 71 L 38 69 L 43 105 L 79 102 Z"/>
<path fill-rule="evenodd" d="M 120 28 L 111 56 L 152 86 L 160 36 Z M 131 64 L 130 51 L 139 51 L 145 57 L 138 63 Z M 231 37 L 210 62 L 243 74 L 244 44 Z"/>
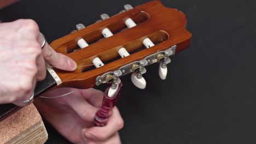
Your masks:
<path fill-rule="evenodd" d="M 101 106 L 103 92 L 93 88 L 59 88 L 42 96 L 56 97 L 72 91 L 60 98 L 38 98 L 34 104 L 43 117 L 73 143 L 121 143 L 118 130 L 124 123 L 117 107 L 114 107 L 107 125 L 94 127 L 95 113 Z"/>

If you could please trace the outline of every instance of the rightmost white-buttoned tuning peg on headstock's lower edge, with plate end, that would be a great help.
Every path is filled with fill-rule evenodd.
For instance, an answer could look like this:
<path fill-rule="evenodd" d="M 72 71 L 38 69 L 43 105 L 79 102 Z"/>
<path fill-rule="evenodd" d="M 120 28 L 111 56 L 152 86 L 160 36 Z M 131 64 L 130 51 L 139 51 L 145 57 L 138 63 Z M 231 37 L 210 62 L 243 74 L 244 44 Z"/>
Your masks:
<path fill-rule="evenodd" d="M 171 47 L 171 49 L 167 49 L 164 51 L 164 54 L 160 54 L 157 56 L 158 61 L 160 62 L 158 74 L 162 80 L 166 79 L 167 76 L 167 64 L 171 62 L 169 56 L 174 55 L 174 51 L 176 49 L 176 45 Z"/>

